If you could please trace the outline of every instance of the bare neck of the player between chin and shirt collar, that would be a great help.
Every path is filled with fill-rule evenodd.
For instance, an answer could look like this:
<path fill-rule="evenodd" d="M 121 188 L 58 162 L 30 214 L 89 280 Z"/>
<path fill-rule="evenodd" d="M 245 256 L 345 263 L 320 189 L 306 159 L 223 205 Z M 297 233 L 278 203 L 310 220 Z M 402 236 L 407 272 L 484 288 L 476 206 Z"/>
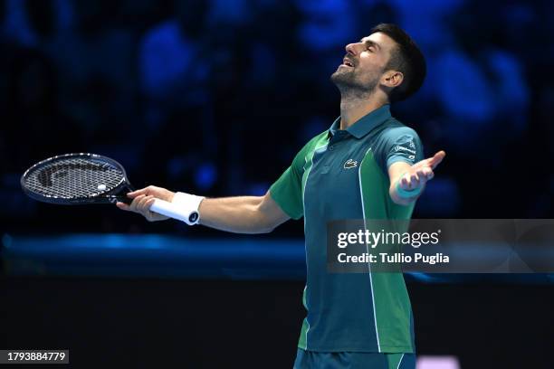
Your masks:
<path fill-rule="evenodd" d="M 340 129 L 349 128 L 359 118 L 387 104 L 387 99 L 377 97 L 375 93 L 348 93 L 340 96 Z"/>

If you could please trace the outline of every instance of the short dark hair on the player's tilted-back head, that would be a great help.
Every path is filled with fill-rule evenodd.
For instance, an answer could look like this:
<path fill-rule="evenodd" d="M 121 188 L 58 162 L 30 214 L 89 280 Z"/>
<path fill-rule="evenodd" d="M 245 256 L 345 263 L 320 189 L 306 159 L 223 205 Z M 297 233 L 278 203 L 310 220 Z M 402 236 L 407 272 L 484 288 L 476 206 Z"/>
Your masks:
<path fill-rule="evenodd" d="M 390 102 L 407 99 L 423 85 L 427 73 L 425 57 L 414 40 L 396 24 L 377 24 L 371 29 L 371 33 L 377 32 L 387 34 L 396 43 L 386 70 L 400 71 L 404 74 L 404 80 L 390 92 L 388 99 Z"/>

